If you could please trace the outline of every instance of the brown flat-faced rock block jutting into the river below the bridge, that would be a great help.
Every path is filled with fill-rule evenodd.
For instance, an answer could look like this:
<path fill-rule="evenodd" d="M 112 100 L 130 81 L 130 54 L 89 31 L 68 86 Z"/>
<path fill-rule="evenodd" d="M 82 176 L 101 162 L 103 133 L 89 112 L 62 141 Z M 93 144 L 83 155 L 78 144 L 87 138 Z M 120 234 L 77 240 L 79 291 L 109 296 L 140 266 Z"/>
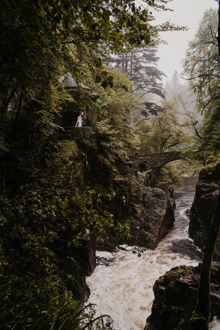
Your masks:
<path fill-rule="evenodd" d="M 155 249 L 173 226 L 173 207 L 167 194 L 145 185 L 144 173 L 138 172 L 130 207 L 131 244 Z"/>

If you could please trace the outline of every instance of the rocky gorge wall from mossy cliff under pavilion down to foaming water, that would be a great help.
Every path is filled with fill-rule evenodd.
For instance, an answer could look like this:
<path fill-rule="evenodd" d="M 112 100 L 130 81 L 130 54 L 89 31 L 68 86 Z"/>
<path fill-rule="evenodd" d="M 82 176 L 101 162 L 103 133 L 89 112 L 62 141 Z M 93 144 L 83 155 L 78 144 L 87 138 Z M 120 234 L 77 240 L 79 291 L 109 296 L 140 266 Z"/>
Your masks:
<path fill-rule="evenodd" d="M 112 251 L 118 244 L 128 244 L 155 249 L 173 226 L 175 203 L 170 198 L 173 191 L 169 191 L 165 182 L 150 186 L 149 173 L 138 172 L 131 162 L 110 162 L 108 155 L 88 137 L 76 140 L 68 132 L 54 138 L 54 145 L 58 145 L 58 148 L 51 147 L 54 161 L 46 168 L 43 163 L 39 164 L 40 177 L 49 185 L 55 182 L 73 191 L 75 188 L 84 191 L 89 186 L 101 200 L 98 205 L 94 199 L 93 208 L 106 210 L 115 221 L 105 235 L 78 237 L 78 247 L 65 244 L 63 252 L 59 252 L 58 268 L 63 276 L 63 290 L 71 291 L 83 306 L 90 295 L 86 276 L 90 276 L 96 267 L 96 248 Z M 128 221 L 129 239 L 119 233 L 120 227 Z M 63 241 L 57 242 L 57 250 L 62 244 Z"/>

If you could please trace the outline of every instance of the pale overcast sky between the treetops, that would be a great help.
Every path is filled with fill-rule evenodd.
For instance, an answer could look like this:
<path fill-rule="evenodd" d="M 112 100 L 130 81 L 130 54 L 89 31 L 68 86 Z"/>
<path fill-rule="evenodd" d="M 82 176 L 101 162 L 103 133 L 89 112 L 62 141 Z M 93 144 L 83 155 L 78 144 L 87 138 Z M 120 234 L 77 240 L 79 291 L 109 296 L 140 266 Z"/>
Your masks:
<path fill-rule="evenodd" d="M 170 80 L 174 71 L 179 74 L 182 71 L 181 59 L 185 56 L 188 41 L 192 40 L 197 29 L 198 22 L 201 20 L 206 9 L 218 8 L 218 3 L 214 0 L 173 0 L 167 4 L 173 12 L 154 13 L 156 23 L 162 23 L 170 19 L 176 25 L 188 26 L 188 31 L 162 32 L 161 38 L 166 40 L 168 45 L 160 45 L 158 56 L 158 68 L 163 71 Z"/>

